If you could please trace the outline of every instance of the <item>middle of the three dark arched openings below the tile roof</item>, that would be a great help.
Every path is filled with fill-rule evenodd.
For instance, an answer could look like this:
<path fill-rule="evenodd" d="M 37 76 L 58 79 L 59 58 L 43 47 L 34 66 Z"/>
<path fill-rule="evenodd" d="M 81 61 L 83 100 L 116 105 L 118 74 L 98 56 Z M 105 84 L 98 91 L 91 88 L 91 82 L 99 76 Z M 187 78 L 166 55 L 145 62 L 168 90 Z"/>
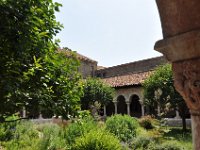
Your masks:
<path fill-rule="evenodd" d="M 124 96 L 120 95 L 117 98 L 117 113 L 118 114 L 127 114 L 127 106 Z"/>

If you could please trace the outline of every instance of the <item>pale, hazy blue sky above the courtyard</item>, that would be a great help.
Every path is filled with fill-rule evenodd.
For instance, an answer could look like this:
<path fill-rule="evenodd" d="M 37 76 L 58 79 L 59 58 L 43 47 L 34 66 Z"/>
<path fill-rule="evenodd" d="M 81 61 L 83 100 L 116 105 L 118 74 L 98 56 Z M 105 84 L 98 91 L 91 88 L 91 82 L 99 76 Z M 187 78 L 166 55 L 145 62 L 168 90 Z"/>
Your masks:
<path fill-rule="evenodd" d="M 155 0 L 56 0 L 64 29 L 56 36 L 68 47 L 104 67 L 161 56 L 162 39 Z"/>

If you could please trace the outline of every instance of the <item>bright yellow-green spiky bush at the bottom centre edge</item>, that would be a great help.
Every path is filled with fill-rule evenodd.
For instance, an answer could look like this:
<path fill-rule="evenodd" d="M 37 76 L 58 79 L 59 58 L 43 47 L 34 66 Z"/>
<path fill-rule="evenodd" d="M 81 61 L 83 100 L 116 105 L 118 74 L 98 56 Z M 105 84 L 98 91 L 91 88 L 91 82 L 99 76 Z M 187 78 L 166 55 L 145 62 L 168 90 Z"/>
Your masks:
<path fill-rule="evenodd" d="M 98 129 L 79 137 L 71 150 L 122 150 L 122 147 L 113 134 Z"/>

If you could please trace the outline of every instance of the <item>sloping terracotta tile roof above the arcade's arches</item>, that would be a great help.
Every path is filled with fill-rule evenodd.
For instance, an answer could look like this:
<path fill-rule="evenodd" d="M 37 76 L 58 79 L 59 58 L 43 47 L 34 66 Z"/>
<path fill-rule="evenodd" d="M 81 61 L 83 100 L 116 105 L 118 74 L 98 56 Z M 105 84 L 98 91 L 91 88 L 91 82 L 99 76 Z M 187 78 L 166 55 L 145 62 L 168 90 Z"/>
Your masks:
<path fill-rule="evenodd" d="M 128 75 L 115 76 L 102 79 L 103 82 L 107 83 L 111 87 L 123 87 L 130 85 L 141 85 L 144 80 L 150 76 L 153 71 L 132 73 Z"/>

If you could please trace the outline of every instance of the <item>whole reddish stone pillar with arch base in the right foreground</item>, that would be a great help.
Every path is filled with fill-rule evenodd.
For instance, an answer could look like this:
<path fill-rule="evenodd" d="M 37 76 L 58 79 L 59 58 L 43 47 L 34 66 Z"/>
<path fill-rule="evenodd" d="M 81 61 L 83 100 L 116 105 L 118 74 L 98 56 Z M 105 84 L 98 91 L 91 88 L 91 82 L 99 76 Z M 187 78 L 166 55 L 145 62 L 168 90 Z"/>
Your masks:
<path fill-rule="evenodd" d="M 156 0 L 163 40 L 155 49 L 172 62 L 174 85 L 192 117 L 194 149 L 200 150 L 200 3 L 199 0 Z"/>

